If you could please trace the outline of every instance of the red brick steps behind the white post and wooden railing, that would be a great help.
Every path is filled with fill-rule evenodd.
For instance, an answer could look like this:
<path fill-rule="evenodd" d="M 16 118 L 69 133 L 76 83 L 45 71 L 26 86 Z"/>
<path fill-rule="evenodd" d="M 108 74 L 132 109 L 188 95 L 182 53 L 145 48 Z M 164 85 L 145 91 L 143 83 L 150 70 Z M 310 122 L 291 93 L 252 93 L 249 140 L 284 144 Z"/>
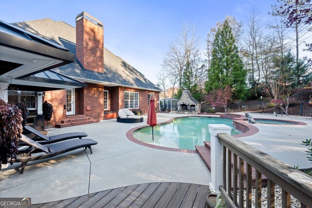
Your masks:
<path fill-rule="evenodd" d="M 211 143 L 204 141 L 205 146 L 195 146 L 196 152 L 199 154 L 203 162 L 205 163 L 206 167 L 209 171 L 211 171 Z M 232 155 L 232 162 L 234 161 L 234 156 Z M 233 163 L 232 163 L 232 177 L 234 174 L 233 171 Z M 238 170 L 237 170 L 238 172 Z M 244 186 L 246 186 L 246 162 L 244 162 Z M 233 182 L 232 182 L 233 183 Z M 237 181 L 238 183 L 238 181 Z M 239 186 L 239 184 L 237 184 Z M 262 187 L 267 186 L 267 177 L 262 175 Z M 255 169 L 252 168 L 252 187 L 255 187 Z"/>

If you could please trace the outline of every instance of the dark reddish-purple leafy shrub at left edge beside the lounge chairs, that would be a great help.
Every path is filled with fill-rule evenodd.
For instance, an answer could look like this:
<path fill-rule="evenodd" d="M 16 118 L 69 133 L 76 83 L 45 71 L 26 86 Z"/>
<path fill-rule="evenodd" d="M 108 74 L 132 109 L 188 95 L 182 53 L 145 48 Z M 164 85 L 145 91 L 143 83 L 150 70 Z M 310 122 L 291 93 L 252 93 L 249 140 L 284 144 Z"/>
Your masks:
<path fill-rule="evenodd" d="M 20 133 L 23 131 L 20 109 L 0 99 L 0 169 L 7 164 L 9 158 L 18 154 Z M 12 163 L 11 163 L 12 165 Z"/>

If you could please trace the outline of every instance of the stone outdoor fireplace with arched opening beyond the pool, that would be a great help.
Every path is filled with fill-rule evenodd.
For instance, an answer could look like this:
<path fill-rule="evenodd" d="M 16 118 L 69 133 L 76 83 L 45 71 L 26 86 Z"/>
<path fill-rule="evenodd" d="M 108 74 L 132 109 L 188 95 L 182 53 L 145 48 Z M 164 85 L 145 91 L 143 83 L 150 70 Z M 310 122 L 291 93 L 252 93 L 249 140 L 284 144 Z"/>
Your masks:
<path fill-rule="evenodd" d="M 180 99 L 177 101 L 178 110 L 176 113 L 198 114 L 201 104 L 195 100 L 189 90 L 183 90 Z"/>

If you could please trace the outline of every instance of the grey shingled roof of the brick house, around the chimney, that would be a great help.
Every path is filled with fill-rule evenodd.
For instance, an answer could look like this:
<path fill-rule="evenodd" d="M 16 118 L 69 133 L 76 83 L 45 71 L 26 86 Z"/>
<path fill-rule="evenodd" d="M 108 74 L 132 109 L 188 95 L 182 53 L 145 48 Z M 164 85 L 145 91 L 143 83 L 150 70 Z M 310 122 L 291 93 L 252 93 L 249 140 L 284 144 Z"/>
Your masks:
<path fill-rule="evenodd" d="M 54 21 L 46 18 L 12 24 L 41 38 L 59 44 L 69 49 L 71 53 L 76 54 L 76 28 L 63 21 Z M 161 91 L 137 69 L 105 47 L 103 74 L 84 69 L 77 58 L 74 63 L 55 68 L 54 71 L 84 82 Z"/>

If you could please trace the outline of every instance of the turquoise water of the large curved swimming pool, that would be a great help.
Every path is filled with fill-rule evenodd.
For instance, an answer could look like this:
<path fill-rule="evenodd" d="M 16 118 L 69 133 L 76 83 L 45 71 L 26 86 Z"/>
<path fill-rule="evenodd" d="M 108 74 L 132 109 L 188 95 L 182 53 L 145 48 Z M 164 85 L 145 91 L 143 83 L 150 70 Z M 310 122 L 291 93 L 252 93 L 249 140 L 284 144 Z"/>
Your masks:
<path fill-rule="evenodd" d="M 195 145 L 203 145 L 204 141 L 210 141 L 208 124 L 225 124 L 232 127 L 232 135 L 241 133 L 233 128 L 232 122 L 231 119 L 223 118 L 182 117 L 155 126 L 154 141 L 152 127 L 139 129 L 133 136 L 142 142 L 161 147 L 195 150 Z"/>

